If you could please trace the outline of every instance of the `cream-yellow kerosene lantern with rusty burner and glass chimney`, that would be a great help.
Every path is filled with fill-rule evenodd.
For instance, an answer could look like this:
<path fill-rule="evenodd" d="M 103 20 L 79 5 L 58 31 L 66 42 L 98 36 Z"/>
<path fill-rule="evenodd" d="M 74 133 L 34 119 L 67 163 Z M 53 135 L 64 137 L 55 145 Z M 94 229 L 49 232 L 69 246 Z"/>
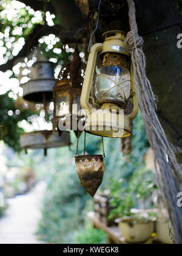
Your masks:
<path fill-rule="evenodd" d="M 124 43 L 126 34 L 112 30 L 103 36 L 104 43 L 93 45 L 90 51 L 81 93 L 81 105 L 88 113 L 85 129 L 104 137 L 129 137 L 130 121 L 138 113 L 138 97 L 130 54 Z M 93 87 L 94 105 L 90 101 Z"/>

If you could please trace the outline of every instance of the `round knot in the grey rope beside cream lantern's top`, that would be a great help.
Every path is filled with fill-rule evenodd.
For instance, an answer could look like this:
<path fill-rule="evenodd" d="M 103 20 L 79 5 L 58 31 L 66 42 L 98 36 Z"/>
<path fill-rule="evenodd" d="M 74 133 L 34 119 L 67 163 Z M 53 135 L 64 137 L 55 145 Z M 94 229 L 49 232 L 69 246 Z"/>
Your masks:
<path fill-rule="evenodd" d="M 144 41 L 140 35 L 130 31 L 126 35 L 125 43 L 127 48 L 129 48 L 130 51 L 133 51 L 133 49 L 143 46 Z"/>

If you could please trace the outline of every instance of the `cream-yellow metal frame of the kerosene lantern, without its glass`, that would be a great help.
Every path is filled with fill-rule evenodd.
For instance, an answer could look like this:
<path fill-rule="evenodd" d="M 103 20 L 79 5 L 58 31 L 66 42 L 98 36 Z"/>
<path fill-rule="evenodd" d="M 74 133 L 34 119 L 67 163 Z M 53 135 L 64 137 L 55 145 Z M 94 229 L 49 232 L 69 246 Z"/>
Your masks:
<path fill-rule="evenodd" d="M 87 112 L 85 129 L 86 132 L 103 137 L 129 137 L 132 134 L 130 121 L 132 121 L 138 114 L 138 96 L 135 90 L 135 77 L 132 61 L 130 59 L 130 52 L 124 43 L 126 33 L 120 30 L 112 30 L 104 33 L 103 37 L 104 43 L 97 43 L 92 46 L 87 62 L 86 76 L 81 93 L 81 106 Z M 112 57 L 113 54 L 115 55 L 115 58 Z M 99 99 L 98 101 L 96 100 L 95 103 L 93 102 L 93 96 L 90 97 L 90 93 L 96 77 L 99 76 L 96 75 L 94 78 L 98 55 L 103 60 L 102 65 L 108 66 L 115 62 L 114 65 L 129 69 L 131 79 L 130 95 L 126 101 L 120 102 L 116 100 L 114 101 L 113 99 Z M 106 56 L 109 58 L 107 59 Z M 109 77 L 107 78 L 110 79 Z M 124 82 L 127 81 L 125 80 Z M 116 86 L 120 87 L 120 84 L 116 83 Z M 94 104 L 90 103 L 91 98 Z M 99 125 L 99 110 L 104 111 L 104 126 Z M 124 111 L 123 121 L 120 121 L 119 110 Z M 115 112 L 112 114 L 114 117 L 113 119 L 116 119 L 115 123 L 112 123 L 111 119 L 109 119 L 111 111 Z M 110 126 L 110 123 L 113 124 L 112 127 Z M 109 130 L 109 128 L 111 129 Z"/>

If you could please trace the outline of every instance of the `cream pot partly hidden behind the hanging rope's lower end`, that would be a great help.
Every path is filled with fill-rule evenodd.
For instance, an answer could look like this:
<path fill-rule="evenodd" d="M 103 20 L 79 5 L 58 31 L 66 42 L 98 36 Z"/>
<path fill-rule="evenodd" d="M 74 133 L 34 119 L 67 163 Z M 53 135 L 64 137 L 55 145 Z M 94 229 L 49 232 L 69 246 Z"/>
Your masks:
<path fill-rule="evenodd" d="M 173 244 L 169 235 L 169 221 L 158 220 L 156 223 L 158 240 L 165 244 Z"/>

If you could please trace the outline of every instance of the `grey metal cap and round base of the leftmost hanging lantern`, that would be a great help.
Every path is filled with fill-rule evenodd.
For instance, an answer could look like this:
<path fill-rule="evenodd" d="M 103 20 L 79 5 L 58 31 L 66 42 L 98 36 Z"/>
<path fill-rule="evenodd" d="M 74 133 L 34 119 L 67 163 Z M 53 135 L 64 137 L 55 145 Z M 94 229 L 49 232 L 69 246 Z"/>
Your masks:
<path fill-rule="evenodd" d="M 30 80 L 22 85 L 23 98 L 26 101 L 43 104 L 46 120 L 47 107 L 52 101 L 55 85 L 54 66 L 44 59 L 40 50 L 34 52 L 34 55 L 37 57 L 37 62 L 30 68 Z M 70 133 L 52 130 L 24 133 L 20 136 L 20 144 L 26 153 L 27 149 L 44 149 L 44 154 L 47 155 L 48 148 L 70 146 Z"/>

